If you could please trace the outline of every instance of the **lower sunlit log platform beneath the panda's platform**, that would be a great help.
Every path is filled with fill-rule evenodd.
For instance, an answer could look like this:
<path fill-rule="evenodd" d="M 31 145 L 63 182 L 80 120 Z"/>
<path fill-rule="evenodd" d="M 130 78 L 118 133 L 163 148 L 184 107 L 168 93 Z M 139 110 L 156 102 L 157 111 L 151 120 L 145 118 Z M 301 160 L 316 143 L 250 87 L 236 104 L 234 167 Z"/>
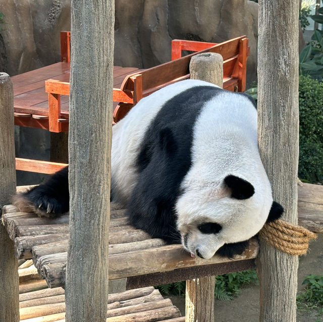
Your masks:
<path fill-rule="evenodd" d="M 64 293 L 63 288 L 20 293 L 20 321 L 65 321 Z M 172 301 L 153 287 L 109 294 L 106 317 L 106 322 L 185 322 Z"/>

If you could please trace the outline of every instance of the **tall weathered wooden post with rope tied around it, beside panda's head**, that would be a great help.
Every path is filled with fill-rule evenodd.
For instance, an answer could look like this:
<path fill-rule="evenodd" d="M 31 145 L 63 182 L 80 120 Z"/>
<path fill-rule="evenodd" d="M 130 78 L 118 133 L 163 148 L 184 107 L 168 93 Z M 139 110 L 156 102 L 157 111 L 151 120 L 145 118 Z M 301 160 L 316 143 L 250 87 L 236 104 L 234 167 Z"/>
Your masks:
<path fill-rule="evenodd" d="M 298 2 L 260 0 L 258 141 L 283 220 L 297 224 Z M 298 256 L 260 240 L 259 321 L 296 321 Z"/>

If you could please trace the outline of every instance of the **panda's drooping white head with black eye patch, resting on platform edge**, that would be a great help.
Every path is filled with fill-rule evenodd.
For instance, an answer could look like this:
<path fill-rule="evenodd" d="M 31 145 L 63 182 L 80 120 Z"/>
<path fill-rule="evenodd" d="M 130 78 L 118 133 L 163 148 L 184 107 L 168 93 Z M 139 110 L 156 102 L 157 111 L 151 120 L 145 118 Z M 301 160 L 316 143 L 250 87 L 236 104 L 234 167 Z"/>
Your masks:
<path fill-rule="evenodd" d="M 257 234 L 273 203 L 269 182 L 259 192 L 236 175 L 217 182 L 186 183 L 176 204 L 177 229 L 193 257 L 209 259 L 224 244 Z"/>

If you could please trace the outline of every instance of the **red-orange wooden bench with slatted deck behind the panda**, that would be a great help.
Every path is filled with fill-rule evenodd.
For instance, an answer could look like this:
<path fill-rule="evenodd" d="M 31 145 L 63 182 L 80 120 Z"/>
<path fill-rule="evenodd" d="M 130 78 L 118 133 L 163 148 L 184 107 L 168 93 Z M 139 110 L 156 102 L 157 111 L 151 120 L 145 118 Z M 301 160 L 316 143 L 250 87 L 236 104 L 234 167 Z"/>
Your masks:
<path fill-rule="evenodd" d="M 70 36 L 70 32 L 61 33 L 61 62 L 12 78 L 16 125 L 68 132 Z M 193 53 L 182 57 L 183 50 Z M 114 67 L 114 123 L 123 118 L 142 97 L 166 85 L 188 79 L 191 57 L 203 52 L 223 56 L 223 88 L 239 92 L 245 90 L 250 52 L 246 36 L 218 44 L 175 39 L 172 41 L 172 60 L 169 62 L 146 70 Z M 18 158 L 16 161 L 16 169 L 41 173 L 56 172 L 63 166 Z"/>

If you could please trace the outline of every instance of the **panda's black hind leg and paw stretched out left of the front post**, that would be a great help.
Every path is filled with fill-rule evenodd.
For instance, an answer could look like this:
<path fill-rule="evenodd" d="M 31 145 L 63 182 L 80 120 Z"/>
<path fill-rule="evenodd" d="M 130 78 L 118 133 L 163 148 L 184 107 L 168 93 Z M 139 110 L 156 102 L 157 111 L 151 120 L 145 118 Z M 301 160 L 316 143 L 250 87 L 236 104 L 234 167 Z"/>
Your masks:
<path fill-rule="evenodd" d="M 69 211 L 68 166 L 54 173 L 43 184 L 13 199 L 20 211 L 34 212 L 39 217 L 57 217 Z"/>

